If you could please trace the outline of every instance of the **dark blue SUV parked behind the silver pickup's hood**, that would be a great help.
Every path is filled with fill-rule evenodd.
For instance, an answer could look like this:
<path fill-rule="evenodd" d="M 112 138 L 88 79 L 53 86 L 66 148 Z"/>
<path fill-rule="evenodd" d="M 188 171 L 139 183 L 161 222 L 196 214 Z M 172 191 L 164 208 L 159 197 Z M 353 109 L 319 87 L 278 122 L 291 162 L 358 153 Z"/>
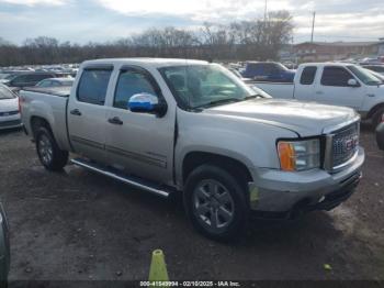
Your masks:
<path fill-rule="evenodd" d="M 247 62 L 241 76 L 258 81 L 292 82 L 295 71 L 287 69 L 280 63 Z"/>

